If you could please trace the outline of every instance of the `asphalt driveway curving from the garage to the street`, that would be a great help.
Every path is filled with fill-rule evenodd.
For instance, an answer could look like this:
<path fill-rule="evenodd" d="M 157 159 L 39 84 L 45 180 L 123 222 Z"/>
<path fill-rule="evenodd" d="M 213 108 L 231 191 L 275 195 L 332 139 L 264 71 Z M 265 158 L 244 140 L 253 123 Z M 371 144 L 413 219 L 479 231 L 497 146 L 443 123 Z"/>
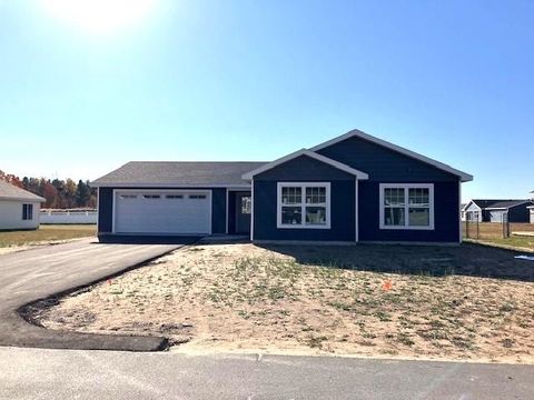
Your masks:
<path fill-rule="evenodd" d="M 191 240 L 185 238 L 184 242 Z M 58 334 L 29 324 L 17 309 L 118 273 L 181 246 L 101 244 L 86 239 L 0 256 L 0 346 L 139 351 L 161 348 L 162 338 Z"/>

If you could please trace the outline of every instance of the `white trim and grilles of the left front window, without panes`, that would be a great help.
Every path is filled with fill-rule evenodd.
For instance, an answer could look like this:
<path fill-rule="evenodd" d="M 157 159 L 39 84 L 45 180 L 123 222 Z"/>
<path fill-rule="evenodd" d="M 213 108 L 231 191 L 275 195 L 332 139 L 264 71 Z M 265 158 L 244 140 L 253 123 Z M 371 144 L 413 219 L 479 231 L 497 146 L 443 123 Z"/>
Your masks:
<path fill-rule="evenodd" d="M 281 203 L 281 188 L 301 188 L 303 190 L 303 202 L 301 207 L 301 216 L 303 216 L 303 223 L 301 224 L 289 224 L 289 223 L 281 223 L 281 207 L 291 207 L 290 204 L 283 204 Z M 325 224 L 306 224 L 306 207 L 314 207 L 314 204 L 306 204 L 306 188 L 317 188 L 324 187 L 326 189 L 326 223 Z M 330 229 L 332 221 L 330 221 L 330 182 L 278 182 L 277 193 L 276 193 L 276 227 L 278 229 Z M 298 207 L 298 206 L 297 206 Z M 319 206 L 322 207 L 322 206 Z"/>

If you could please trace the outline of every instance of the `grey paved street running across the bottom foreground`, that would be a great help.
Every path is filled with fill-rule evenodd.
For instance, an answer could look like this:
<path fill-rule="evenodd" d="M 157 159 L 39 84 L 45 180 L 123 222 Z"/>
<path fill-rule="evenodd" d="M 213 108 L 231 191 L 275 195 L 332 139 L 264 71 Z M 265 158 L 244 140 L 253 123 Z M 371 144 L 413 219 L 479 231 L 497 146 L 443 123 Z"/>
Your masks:
<path fill-rule="evenodd" d="M 534 366 L 0 348 L 1 399 L 534 399 Z"/>

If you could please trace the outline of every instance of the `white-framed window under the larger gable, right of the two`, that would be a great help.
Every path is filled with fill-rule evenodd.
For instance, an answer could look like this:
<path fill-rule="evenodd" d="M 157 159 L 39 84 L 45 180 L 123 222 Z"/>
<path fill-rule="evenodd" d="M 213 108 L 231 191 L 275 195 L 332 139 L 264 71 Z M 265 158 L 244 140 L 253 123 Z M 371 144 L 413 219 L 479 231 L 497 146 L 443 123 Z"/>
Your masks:
<path fill-rule="evenodd" d="M 433 183 L 380 183 L 380 229 L 434 229 Z"/>

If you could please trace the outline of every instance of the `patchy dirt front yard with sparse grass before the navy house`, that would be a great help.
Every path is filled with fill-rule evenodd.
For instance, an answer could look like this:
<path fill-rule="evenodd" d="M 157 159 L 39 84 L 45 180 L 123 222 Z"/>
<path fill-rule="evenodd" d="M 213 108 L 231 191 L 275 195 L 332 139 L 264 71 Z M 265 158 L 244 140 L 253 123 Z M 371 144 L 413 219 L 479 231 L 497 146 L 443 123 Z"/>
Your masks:
<path fill-rule="evenodd" d="M 61 299 L 50 329 L 165 334 L 177 351 L 534 363 L 534 261 L 462 247 L 176 251 Z"/>

